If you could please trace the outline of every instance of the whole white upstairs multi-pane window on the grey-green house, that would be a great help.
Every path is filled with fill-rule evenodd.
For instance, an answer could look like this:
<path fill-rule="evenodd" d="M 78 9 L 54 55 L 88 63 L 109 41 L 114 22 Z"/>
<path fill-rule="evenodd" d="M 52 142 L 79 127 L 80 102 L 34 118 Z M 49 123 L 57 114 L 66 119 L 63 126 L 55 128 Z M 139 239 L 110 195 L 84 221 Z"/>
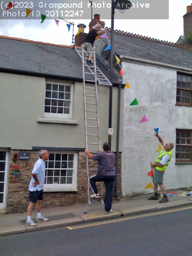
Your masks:
<path fill-rule="evenodd" d="M 46 82 L 45 116 L 72 117 L 73 85 Z"/>

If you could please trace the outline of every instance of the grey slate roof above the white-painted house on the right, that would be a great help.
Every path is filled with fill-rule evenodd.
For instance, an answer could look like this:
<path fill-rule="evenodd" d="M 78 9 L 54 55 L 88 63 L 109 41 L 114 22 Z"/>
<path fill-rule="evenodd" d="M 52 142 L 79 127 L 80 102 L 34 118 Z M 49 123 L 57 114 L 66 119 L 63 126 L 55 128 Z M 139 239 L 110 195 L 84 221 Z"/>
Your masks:
<path fill-rule="evenodd" d="M 107 36 L 110 40 L 109 31 L 107 31 Z M 103 40 L 109 44 L 107 39 Z M 120 56 L 135 57 L 192 69 L 192 47 L 183 48 L 175 44 L 158 43 L 153 40 L 114 32 L 114 51 Z"/>

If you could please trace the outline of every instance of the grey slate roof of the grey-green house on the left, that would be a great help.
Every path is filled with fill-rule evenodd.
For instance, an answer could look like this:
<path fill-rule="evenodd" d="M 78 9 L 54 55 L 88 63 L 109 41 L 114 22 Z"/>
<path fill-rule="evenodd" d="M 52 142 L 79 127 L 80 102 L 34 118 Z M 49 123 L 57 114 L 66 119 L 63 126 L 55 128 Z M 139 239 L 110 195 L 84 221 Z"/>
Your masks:
<path fill-rule="evenodd" d="M 110 72 L 97 64 L 109 78 Z M 82 61 L 72 46 L 0 36 L 0 71 L 82 80 Z"/>

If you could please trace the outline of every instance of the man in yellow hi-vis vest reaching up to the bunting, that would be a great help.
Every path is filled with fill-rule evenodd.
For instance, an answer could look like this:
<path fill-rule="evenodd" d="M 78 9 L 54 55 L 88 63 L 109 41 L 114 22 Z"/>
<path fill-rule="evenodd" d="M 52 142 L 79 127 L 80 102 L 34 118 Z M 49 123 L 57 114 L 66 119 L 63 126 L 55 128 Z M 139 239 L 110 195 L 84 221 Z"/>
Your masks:
<path fill-rule="evenodd" d="M 158 185 L 161 188 L 161 191 L 163 192 L 163 199 L 159 201 L 159 203 L 166 203 L 168 202 L 168 198 L 165 192 L 165 186 L 163 185 L 163 177 L 165 170 L 171 160 L 172 151 L 171 149 L 174 147 L 173 143 L 164 143 L 161 137 L 158 134 L 155 134 L 155 136 L 159 139 L 159 142 L 164 146 L 164 148 L 160 151 L 159 156 L 156 158 L 154 164 L 151 166 L 155 168 L 153 172 L 153 188 L 154 188 L 154 194 L 151 198 L 148 198 L 148 200 L 158 200 L 157 196 L 157 188 Z"/>

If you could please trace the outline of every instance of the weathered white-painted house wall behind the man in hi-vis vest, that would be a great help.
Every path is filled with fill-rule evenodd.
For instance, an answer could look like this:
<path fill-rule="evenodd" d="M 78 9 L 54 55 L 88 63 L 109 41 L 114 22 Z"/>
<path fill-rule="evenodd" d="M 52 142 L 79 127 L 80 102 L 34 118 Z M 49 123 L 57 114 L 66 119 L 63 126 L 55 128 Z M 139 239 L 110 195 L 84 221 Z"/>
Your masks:
<path fill-rule="evenodd" d="M 159 127 L 164 142 L 176 142 L 176 128 L 192 129 L 192 108 L 176 106 L 177 72 L 152 66 L 123 62 L 123 195 L 153 192 L 144 189 L 151 182 L 148 176 L 150 162 L 158 156 L 159 141 L 153 128 Z M 137 99 L 136 106 L 130 103 Z M 139 123 L 143 115 L 149 122 Z M 165 188 L 174 189 L 192 185 L 192 165 L 175 164 L 175 147 L 165 171 Z"/>

